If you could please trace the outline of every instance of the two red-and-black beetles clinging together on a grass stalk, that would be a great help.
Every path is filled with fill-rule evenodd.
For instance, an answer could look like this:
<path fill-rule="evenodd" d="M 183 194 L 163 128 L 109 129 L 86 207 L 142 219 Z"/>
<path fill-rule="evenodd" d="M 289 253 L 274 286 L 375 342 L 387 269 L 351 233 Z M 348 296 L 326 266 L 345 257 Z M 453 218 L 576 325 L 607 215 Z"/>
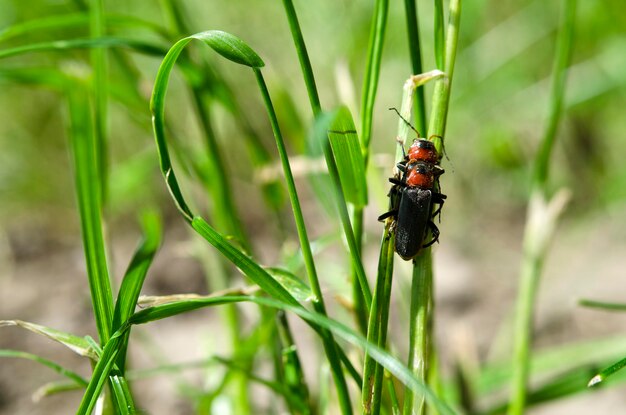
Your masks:
<path fill-rule="evenodd" d="M 434 144 L 415 139 L 404 160 L 397 164 L 399 177 L 389 178 L 393 184 L 389 191 L 389 211 L 378 220 L 389 217 L 395 220 L 395 250 L 406 261 L 439 240 L 439 229 L 433 218 L 440 214 L 446 195 L 436 191 L 439 186 L 435 184 L 444 173 L 438 162 Z M 438 205 L 435 212 L 432 212 L 433 205 Z M 428 230 L 433 238 L 425 243 Z"/>

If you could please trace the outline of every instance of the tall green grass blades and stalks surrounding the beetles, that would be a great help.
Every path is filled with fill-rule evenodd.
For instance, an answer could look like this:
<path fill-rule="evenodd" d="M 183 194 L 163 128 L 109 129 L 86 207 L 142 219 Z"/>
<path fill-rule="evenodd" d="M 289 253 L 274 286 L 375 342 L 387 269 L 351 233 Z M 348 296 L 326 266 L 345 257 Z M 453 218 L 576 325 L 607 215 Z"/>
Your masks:
<path fill-rule="evenodd" d="M 304 88 L 308 98 L 308 103 L 303 98 L 293 106 L 298 110 L 309 107 L 311 114 L 307 117 L 310 123 L 303 128 L 306 131 L 299 131 L 306 137 L 306 145 L 290 137 L 286 125 L 291 120 L 280 117 L 288 106 L 283 102 L 288 100 L 281 99 L 278 92 L 280 65 L 270 65 L 263 56 L 268 61 L 266 67 L 260 52 L 268 56 L 276 53 L 269 41 L 248 34 L 245 37 L 250 43 L 246 43 L 213 25 L 197 31 L 192 13 L 195 10 L 186 3 L 162 0 L 158 7 L 151 7 L 162 13 L 165 24 L 113 13 L 108 2 L 94 0 L 75 2 L 70 14 L 17 22 L 0 32 L 1 62 L 21 59 L 23 65 L 1 68 L 0 79 L 50 89 L 65 103 L 67 147 L 72 161 L 68 175 L 73 176 L 75 183 L 85 277 L 98 333 L 94 340 L 31 322 L 0 321 L 0 327 L 29 330 L 89 361 L 92 371 L 84 377 L 52 359 L 1 349 L 0 357 L 33 361 L 63 377 L 44 385 L 38 391 L 39 397 L 78 390 L 82 394 L 78 414 L 137 413 L 142 411 L 142 400 L 141 394 L 134 393 L 135 381 L 152 375 L 174 380 L 191 367 L 223 374 L 221 382 L 193 392 L 188 383 L 181 382 L 186 399 L 197 413 L 218 411 L 216 402 L 221 399 L 228 402 L 232 413 L 492 414 L 508 409 L 513 415 L 523 413 L 530 405 L 584 391 L 586 382 L 581 383 L 581 379 L 588 381 L 594 374 L 597 376 L 591 383 L 609 376 L 616 383 L 623 381 L 624 376 L 620 377 L 618 371 L 625 365 L 624 360 L 608 364 L 621 357 L 626 344 L 622 337 L 530 352 L 539 276 L 547 242 L 566 199 L 563 193 L 557 193 L 548 202 L 548 170 L 564 108 L 565 75 L 573 50 L 575 0 L 563 1 L 549 114 L 534 159 L 515 355 L 504 362 L 479 364 L 474 371 L 467 369 L 467 362 L 456 366 L 439 362 L 433 251 L 423 249 L 413 260 L 410 289 L 393 290 L 394 281 L 397 284 L 402 279 L 402 272 L 397 271 L 402 267 L 397 266 L 395 225 L 390 219 L 376 228 L 376 232 L 381 232 L 380 242 L 374 244 L 378 261 L 375 267 L 369 266 L 368 256 L 373 251 L 367 218 L 370 199 L 376 197 L 372 191 L 376 184 L 368 183 L 366 178 L 371 178 L 379 167 L 374 157 L 378 148 L 374 121 L 378 117 L 384 119 L 377 112 L 378 106 L 396 105 L 377 104 L 385 58 L 393 56 L 393 51 L 387 50 L 386 37 L 398 30 L 397 22 L 390 20 L 397 16 L 393 4 L 387 0 L 372 2 L 367 30 L 363 31 L 369 33 L 368 41 L 362 42 L 363 56 L 351 61 L 360 68 L 355 73 L 362 73 L 362 80 L 357 81 L 362 84 L 361 106 L 354 117 L 342 103 L 331 105 L 334 100 L 323 95 L 329 88 L 326 79 L 317 76 L 315 70 L 320 58 L 317 54 L 309 55 L 310 50 L 319 50 L 318 38 L 315 31 L 303 24 L 307 20 L 299 18 L 301 9 L 321 11 L 325 6 L 306 5 L 307 9 L 299 2 L 283 0 L 282 23 L 289 29 L 302 73 L 302 82 L 292 80 L 291 86 Z M 474 6 L 469 9 L 476 11 Z M 412 72 L 412 76 L 406 81 L 406 76 L 398 79 L 396 86 L 402 96 L 400 113 L 414 120 L 417 130 L 432 140 L 443 156 L 446 145 L 453 148 L 463 138 L 450 136 L 447 128 L 458 110 L 451 109 L 450 103 L 452 81 L 458 72 L 457 51 L 463 48 L 461 1 L 435 1 L 432 10 L 424 10 L 420 9 L 418 16 L 417 3 L 404 2 L 402 30 L 409 46 L 404 60 L 407 74 Z M 247 16 L 238 18 L 245 20 Z M 425 23 L 427 20 L 430 23 Z M 427 36 L 425 27 L 432 29 Z M 74 32 L 81 35 L 75 36 Z M 44 35 L 43 40 L 38 35 Z M 316 47 L 307 47 L 312 44 Z M 28 66 L 37 62 L 30 60 L 37 56 L 59 65 Z M 151 65 L 158 68 L 156 75 L 146 75 Z M 146 82 L 151 87 L 150 97 L 146 94 Z M 166 105 L 168 91 L 170 100 L 184 96 L 189 105 Z M 254 106 L 257 111 L 251 113 Z M 206 283 L 211 290 L 208 295 L 175 292 L 140 296 L 144 283 L 150 281 L 152 263 L 162 242 L 162 219 L 156 209 L 134 212 L 140 217 L 142 237 L 129 255 L 129 264 L 120 275 L 121 283 L 116 283 L 105 224 L 115 219 L 111 209 L 117 185 L 111 180 L 117 166 L 113 155 L 123 147 L 121 141 L 131 139 L 116 139 L 112 132 L 114 109 L 120 107 L 136 117 L 134 122 L 146 131 L 150 129 L 147 119 L 152 116 L 154 144 L 149 145 L 156 148 L 156 154 L 148 160 L 147 170 L 158 165 L 165 183 L 162 186 L 161 182 L 159 188 L 169 192 L 161 210 L 171 212 L 171 206 L 176 208 L 177 213 L 168 215 L 166 223 L 185 224 L 201 247 L 198 255 L 207 270 Z M 189 120 L 197 124 L 200 144 L 190 143 L 188 138 L 194 133 L 181 128 Z M 224 125 L 228 123 L 240 129 L 236 140 L 223 137 Z M 270 134 L 273 140 L 267 139 Z M 392 135 L 387 134 L 382 146 L 387 151 L 395 150 L 398 162 L 413 132 L 399 120 L 396 141 Z M 321 173 L 305 168 L 304 174 L 321 174 L 325 180 L 320 182 L 324 185 L 312 186 L 306 192 L 297 180 L 304 156 L 294 151 L 303 148 L 320 159 L 323 156 Z M 394 164 L 389 162 L 384 171 L 393 169 Z M 245 189 L 250 187 L 244 182 L 261 176 L 259 171 L 269 170 L 279 173 L 255 182 L 263 200 L 257 206 L 254 196 L 247 194 Z M 452 181 L 450 176 L 454 177 L 442 178 L 442 187 Z M 148 185 L 142 183 L 138 188 L 145 187 Z M 285 194 L 288 206 L 283 203 Z M 450 196 L 446 209 L 462 203 L 454 193 Z M 313 208 L 307 209 L 312 205 L 308 203 L 311 199 L 332 202 L 329 206 L 334 212 L 327 218 L 332 229 L 330 236 L 319 236 L 318 225 L 309 213 Z M 268 220 L 267 224 L 259 224 L 259 218 L 266 213 L 276 223 Z M 281 246 L 283 254 L 268 254 L 261 249 L 265 248 L 260 246 L 263 241 L 259 243 L 254 235 L 255 227 L 274 225 L 284 232 L 276 232 L 276 241 L 267 245 Z M 320 252 L 319 248 L 327 243 L 324 237 L 331 241 L 333 261 L 346 262 L 345 271 L 329 267 L 328 252 Z M 442 243 L 447 243 L 444 241 L 442 238 Z M 334 292 L 330 285 L 342 273 L 350 276 L 350 300 L 344 298 L 345 293 Z M 396 293 L 399 297 L 393 296 Z M 343 308 L 334 304 L 336 297 L 341 298 Z M 391 332 L 398 303 L 408 305 L 408 327 L 400 330 L 402 337 Z M 600 306 L 623 308 L 604 303 Z M 215 324 L 210 331 L 217 333 L 216 337 L 228 332 L 227 355 L 210 353 L 203 361 L 164 364 L 150 373 L 134 370 L 129 349 L 147 354 L 131 333 L 134 326 L 204 308 L 224 310 L 224 319 L 210 323 Z M 439 331 L 448 336 L 451 329 L 441 327 Z M 308 338 L 314 341 L 305 344 L 305 336 L 312 336 Z M 317 349 L 321 353 L 316 353 Z M 400 352 L 406 352 L 406 358 L 397 357 Z M 184 354 L 179 351 L 169 357 L 176 360 Z M 573 366 L 572 362 L 579 364 Z M 598 365 L 607 369 L 598 374 Z M 266 370 L 268 366 L 271 370 Z M 449 376 L 448 366 L 453 366 L 455 376 Z M 529 386 L 531 376 L 546 373 L 551 376 L 548 381 Z M 510 385 L 510 398 L 494 400 L 494 396 L 502 396 L 502 385 Z M 264 402 L 252 393 L 256 390 L 253 387 L 264 388 L 272 402 Z"/>

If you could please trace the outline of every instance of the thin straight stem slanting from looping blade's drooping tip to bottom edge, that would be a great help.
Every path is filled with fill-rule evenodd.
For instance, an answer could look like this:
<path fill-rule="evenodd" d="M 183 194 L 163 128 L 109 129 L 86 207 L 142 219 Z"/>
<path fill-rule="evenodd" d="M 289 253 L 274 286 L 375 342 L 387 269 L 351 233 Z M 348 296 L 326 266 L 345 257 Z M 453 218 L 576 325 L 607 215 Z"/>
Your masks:
<path fill-rule="evenodd" d="M 317 311 L 318 313 L 322 315 L 326 315 L 324 297 L 322 295 L 322 290 L 319 284 L 319 279 L 317 277 L 317 271 L 315 270 L 315 263 L 313 261 L 313 252 L 311 251 L 311 245 L 309 244 L 307 230 L 304 225 L 304 217 L 302 215 L 302 209 L 300 208 L 300 201 L 298 200 L 298 194 L 296 191 L 296 185 L 293 179 L 293 174 L 291 172 L 291 166 L 289 165 L 289 158 L 287 156 L 287 150 L 285 149 L 285 144 L 283 142 L 282 134 L 278 126 L 278 119 L 276 117 L 274 106 L 272 104 L 272 100 L 270 98 L 269 91 L 267 90 L 267 85 L 265 84 L 265 80 L 263 79 L 263 75 L 261 71 L 258 68 L 253 68 L 253 71 L 256 76 L 259 88 L 261 90 L 261 95 L 263 96 L 265 108 L 270 118 L 272 131 L 274 132 L 274 137 L 276 139 L 276 146 L 278 148 L 278 153 L 280 155 L 280 160 L 283 166 L 283 171 L 285 173 L 285 180 L 287 181 L 289 199 L 291 200 L 291 208 L 293 210 L 294 220 L 296 222 L 296 228 L 298 230 L 298 238 L 300 240 L 300 248 L 302 251 L 302 256 L 304 258 L 304 266 L 306 268 L 307 275 L 309 277 L 309 284 L 311 286 L 311 291 L 313 292 L 313 295 L 315 296 L 315 298 L 312 301 L 313 307 L 315 311 Z M 350 404 L 350 394 L 348 392 L 348 386 L 346 384 L 346 380 L 343 375 L 343 369 L 341 366 L 341 361 L 340 361 L 339 353 L 337 350 L 337 344 L 335 343 L 330 331 L 322 330 L 321 333 L 322 333 L 322 342 L 324 344 L 324 349 L 326 351 L 326 357 L 328 358 L 328 362 L 330 364 L 330 368 L 331 368 L 333 378 L 335 381 L 335 386 L 337 388 L 337 396 L 339 398 L 341 411 L 344 415 L 351 414 L 352 405 Z"/>

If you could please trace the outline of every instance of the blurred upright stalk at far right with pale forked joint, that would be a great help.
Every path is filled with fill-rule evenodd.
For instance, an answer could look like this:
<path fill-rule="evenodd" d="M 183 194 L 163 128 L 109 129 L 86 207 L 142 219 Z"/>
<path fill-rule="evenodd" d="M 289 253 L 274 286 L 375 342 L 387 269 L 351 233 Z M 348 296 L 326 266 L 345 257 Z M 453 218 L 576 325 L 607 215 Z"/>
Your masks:
<path fill-rule="evenodd" d="M 575 18 L 576 0 L 563 0 L 561 29 L 557 38 L 550 89 L 548 120 L 535 158 L 532 192 L 524 231 L 524 256 L 517 299 L 513 383 L 508 409 L 509 415 L 521 415 L 524 412 L 537 287 L 539 286 L 549 240 L 556 226 L 558 215 L 565 204 L 564 198 L 559 198 L 559 194 L 552 201 L 547 202 L 546 193 L 550 155 L 561 118 L 567 66 L 573 47 Z"/>

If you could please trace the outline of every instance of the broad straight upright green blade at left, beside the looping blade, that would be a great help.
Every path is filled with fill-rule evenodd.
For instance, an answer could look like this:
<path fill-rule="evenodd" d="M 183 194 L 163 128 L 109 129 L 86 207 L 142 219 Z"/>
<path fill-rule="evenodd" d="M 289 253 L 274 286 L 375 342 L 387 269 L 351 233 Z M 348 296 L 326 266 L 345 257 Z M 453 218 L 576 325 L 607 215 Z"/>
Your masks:
<path fill-rule="evenodd" d="M 90 123 L 89 100 L 80 86 L 68 91 L 71 147 L 74 158 L 76 195 L 91 301 L 100 341 L 105 344 L 113 324 L 113 295 L 102 234 L 101 181 L 98 154 Z"/>

